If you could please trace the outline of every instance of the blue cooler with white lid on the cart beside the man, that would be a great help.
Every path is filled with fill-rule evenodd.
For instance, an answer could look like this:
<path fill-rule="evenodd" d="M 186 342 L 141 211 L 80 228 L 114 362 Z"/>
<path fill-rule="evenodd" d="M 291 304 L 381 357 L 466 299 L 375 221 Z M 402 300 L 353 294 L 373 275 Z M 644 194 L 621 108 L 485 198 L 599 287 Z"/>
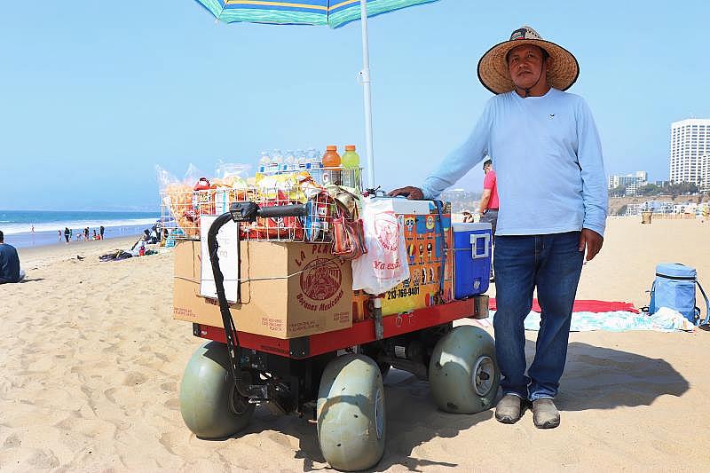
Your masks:
<path fill-rule="evenodd" d="M 491 279 L 491 224 L 453 224 L 454 298 L 483 294 Z"/>

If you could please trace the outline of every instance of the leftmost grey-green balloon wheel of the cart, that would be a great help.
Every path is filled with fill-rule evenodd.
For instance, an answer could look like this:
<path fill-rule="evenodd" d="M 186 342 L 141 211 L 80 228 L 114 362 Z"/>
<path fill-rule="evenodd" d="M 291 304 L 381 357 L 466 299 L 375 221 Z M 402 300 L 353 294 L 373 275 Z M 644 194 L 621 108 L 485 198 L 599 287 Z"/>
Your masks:
<path fill-rule="evenodd" d="M 224 343 L 203 343 L 180 383 L 180 414 L 199 438 L 225 438 L 247 427 L 254 405 L 234 386 Z"/>

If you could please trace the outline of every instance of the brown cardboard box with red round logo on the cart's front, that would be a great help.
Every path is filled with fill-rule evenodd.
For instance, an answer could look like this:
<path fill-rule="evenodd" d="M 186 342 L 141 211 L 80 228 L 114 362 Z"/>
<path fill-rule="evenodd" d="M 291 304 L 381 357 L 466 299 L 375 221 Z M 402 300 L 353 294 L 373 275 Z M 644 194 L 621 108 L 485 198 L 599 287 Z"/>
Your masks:
<path fill-rule="evenodd" d="M 232 304 L 241 332 L 296 338 L 352 325 L 350 262 L 311 243 L 241 241 L 241 304 Z M 222 327 L 217 301 L 200 296 L 201 243 L 175 248 L 173 319 Z"/>

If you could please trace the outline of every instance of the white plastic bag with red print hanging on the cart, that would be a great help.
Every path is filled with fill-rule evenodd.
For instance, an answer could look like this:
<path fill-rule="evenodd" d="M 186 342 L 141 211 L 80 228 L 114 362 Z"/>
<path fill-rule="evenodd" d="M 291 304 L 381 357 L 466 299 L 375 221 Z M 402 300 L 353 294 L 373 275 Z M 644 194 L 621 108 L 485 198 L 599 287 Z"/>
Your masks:
<path fill-rule="evenodd" d="M 367 253 L 352 261 L 352 288 L 376 296 L 409 279 L 404 216 L 387 199 L 364 199 L 362 220 Z"/>

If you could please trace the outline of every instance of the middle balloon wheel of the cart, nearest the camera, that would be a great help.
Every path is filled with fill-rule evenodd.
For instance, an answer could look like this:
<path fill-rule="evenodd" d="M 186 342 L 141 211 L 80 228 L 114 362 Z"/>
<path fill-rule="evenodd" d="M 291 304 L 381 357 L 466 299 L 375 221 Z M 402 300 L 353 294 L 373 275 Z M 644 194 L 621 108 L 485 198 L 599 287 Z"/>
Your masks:
<path fill-rule="evenodd" d="M 334 469 L 357 471 L 383 457 L 384 388 L 380 367 L 364 355 L 330 361 L 318 391 L 320 451 Z"/>

